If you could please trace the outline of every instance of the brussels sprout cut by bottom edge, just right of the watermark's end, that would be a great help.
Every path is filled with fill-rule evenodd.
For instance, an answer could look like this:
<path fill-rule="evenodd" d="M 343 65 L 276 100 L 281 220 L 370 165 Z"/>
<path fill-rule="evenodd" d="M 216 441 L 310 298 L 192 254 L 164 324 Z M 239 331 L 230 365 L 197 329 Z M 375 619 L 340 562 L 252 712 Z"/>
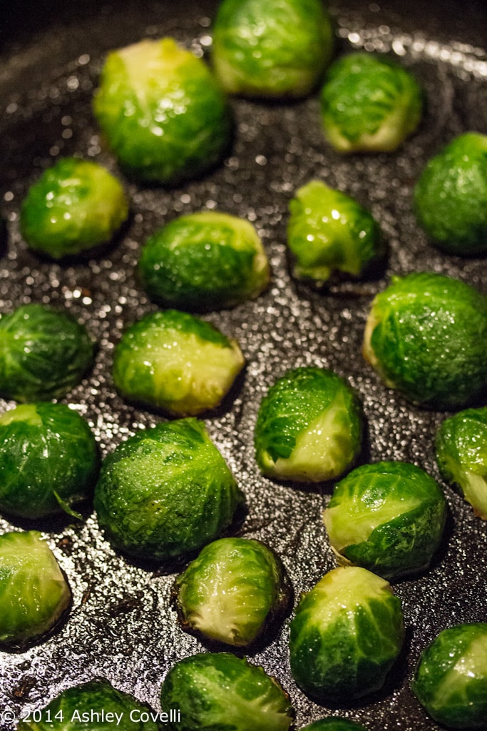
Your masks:
<path fill-rule="evenodd" d="M 288 695 L 274 678 L 229 653 L 186 657 L 166 675 L 164 711 L 180 710 L 171 731 L 287 731 L 293 720 Z"/>

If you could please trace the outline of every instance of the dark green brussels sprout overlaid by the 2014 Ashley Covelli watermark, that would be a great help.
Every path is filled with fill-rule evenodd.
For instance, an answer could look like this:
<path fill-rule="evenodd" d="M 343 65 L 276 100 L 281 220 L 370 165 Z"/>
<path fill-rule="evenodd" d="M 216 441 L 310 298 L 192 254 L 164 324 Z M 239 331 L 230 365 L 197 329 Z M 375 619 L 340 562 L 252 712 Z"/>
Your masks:
<path fill-rule="evenodd" d="M 158 716 L 133 695 L 95 678 L 64 690 L 42 711 L 20 721 L 17 731 L 159 731 Z"/>

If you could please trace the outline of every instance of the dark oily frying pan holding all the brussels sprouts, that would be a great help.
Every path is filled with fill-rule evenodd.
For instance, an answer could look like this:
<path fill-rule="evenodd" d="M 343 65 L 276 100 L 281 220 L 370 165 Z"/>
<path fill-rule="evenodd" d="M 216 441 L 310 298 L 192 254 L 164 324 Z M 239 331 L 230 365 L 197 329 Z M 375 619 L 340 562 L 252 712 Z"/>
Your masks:
<path fill-rule="evenodd" d="M 486 261 L 447 257 L 418 229 L 411 190 L 423 164 L 454 135 L 487 132 L 486 16 L 481 1 L 413 0 L 331 4 L 338 50 L 365 48 L 399 54 L 421 80 L 428 99 L 423 122 L 395 154 L 342 158 L 321 134 L 318 101 L 266 104 L 234 99 L 234 145 L 217 170 L 175 189 L 126 181 L 131 224 L 111 251 L 69 266 L 39 260 L 18 231 L 28 185 L 58 156 L 92 156 L 117 172 L 100 145 L 90 100 L 104 53 L 142 37 L 172 35 L 187 48 L 206 49 L 215 3 L 139 0 L 18 2 L 0 23 L 0 210 L 9 239 L 0 258 L 0 306 L 49 302 L 69 309 L 99 341 L 93 371 L 66 397 L 91 423 L 103 454 L 137 428 L 164 417 L 129 406 L 112 384 L 112 349 L 123 327 L 153 306 L 134 277 L 147 235 L 180 213 L 218 206 L 256 224 L 272 262 L 264 295 L 206 317 L 238 338 L 247 359 L 232 398 L 204 421 L 245 491 L 248 516 L 240 529 L 272 545 L 288 569 L 296 596 L 335 564 L 321 522 L 332 485 L 303 488 L 266 480 L 253 455 L 253 425 L 261 397 L 295 366 L 333 368 L 356 388 L 367 418 L 361 461 L 397 459 L 440 480 L 434 432 L 444 413 L 407 404 L 388 390 L 361 356 L 372 297 L 393 273 L 434 270 L 468 281 L 487 294 Z M 386 270 L 363 284 L 316 292 L 288 271 L 285 224 L 294 190 L 318 177 L 372 209 L 388 244 Z M 0 409 L 12 408 L 2 401 Z M 429 571 L 394 584 L 402 599 L 407 640 L 386 687 L 348 708 L 316 705 L 296 688 L 288 664 L 288 621 L 252 654 L 282 683 L 296 709 L 296 728 L 341 715 L 375 731 L 432 731 L 410 692 L 423 647 L 447 626 L 487 621 L 487 523 L 475 518 L 448 485 L 447 534 Z M 2 532 L 25 523 L 0 519 Z M 174 575 L 115 553 L 89 510 L 86 520 L 53 521 L 41 529 L 69 578 L 73 604 L 66 624 L 19 654 L 0 652 L 0 711 L 5 731 L 63 689 L 101 675 L 158 709 L 158 691 L 177 659 L 204 645 L 177 626 L 169 601 Z"/>

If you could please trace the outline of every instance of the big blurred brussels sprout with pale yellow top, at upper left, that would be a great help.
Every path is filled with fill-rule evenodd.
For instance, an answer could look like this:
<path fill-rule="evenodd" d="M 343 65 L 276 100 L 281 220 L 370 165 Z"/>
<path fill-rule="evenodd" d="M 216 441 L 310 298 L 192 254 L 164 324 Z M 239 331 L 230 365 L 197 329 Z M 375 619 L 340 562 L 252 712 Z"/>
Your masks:
<path fill-rule="evenodd" d="M 194 178 L 229 144 L 223 91 L 204 61 L 172 38 L 109 53 L 93 110 L 120 165 L 140 181 Z"/>

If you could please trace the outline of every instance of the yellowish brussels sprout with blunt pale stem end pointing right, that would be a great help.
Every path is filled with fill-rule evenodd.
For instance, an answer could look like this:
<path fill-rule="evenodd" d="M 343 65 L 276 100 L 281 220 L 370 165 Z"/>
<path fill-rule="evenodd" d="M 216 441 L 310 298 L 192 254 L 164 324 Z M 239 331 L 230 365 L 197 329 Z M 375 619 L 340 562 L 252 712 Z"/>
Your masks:
<path fill-rule="evenodd" d="M 123 334 L 113 379 L 124 398 L 195 416 L 220 404 L 243 365 L 237 341 L 199 317 L 164 310 Z"/>

